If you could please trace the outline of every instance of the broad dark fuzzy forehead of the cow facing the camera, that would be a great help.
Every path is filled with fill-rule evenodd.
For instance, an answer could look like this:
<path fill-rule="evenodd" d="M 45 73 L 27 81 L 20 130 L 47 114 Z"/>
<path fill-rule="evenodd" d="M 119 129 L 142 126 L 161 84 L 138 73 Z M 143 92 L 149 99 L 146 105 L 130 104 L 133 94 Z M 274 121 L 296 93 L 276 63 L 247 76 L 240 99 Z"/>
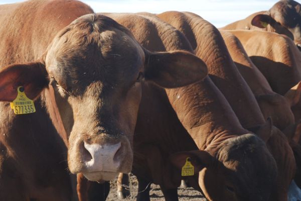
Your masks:
<path fill-rule="evenodd" d="M 69 28 L 53 41 L 46 56 L 49 74 L 64 88 L 82 92 L 96 81 L 128 85 L 143 63 L 141 46 L 131 34 L 116 27 L 96 31 L 89 26 Z"/>

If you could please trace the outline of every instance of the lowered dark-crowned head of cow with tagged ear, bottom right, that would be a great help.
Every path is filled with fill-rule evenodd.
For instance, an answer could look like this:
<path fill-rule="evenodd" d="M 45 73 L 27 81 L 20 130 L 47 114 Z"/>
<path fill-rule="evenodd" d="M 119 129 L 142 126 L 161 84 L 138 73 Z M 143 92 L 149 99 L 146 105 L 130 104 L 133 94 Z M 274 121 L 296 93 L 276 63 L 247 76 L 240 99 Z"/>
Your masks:
<path fill-rule="evenodd" d="M 180 152 L 171 156 L 181 168 L 191 158 L 208 200 L 268 200 L 277 167 L 265 143 L 254 134 L 223 141 L 218 151 Z"/>

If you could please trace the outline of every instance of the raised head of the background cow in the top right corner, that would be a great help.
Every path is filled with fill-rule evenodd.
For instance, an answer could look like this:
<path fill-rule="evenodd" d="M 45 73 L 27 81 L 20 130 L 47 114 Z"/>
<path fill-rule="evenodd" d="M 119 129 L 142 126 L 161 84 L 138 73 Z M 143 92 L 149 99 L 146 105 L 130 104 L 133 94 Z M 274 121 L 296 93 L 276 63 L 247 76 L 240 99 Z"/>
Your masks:
<path fill-rule="evenodd" d="M 290 37 L 301 49 L 301 5 L 292 0 L 277 2 L 265 14 L 259 14 L 252 25 Z"/>

